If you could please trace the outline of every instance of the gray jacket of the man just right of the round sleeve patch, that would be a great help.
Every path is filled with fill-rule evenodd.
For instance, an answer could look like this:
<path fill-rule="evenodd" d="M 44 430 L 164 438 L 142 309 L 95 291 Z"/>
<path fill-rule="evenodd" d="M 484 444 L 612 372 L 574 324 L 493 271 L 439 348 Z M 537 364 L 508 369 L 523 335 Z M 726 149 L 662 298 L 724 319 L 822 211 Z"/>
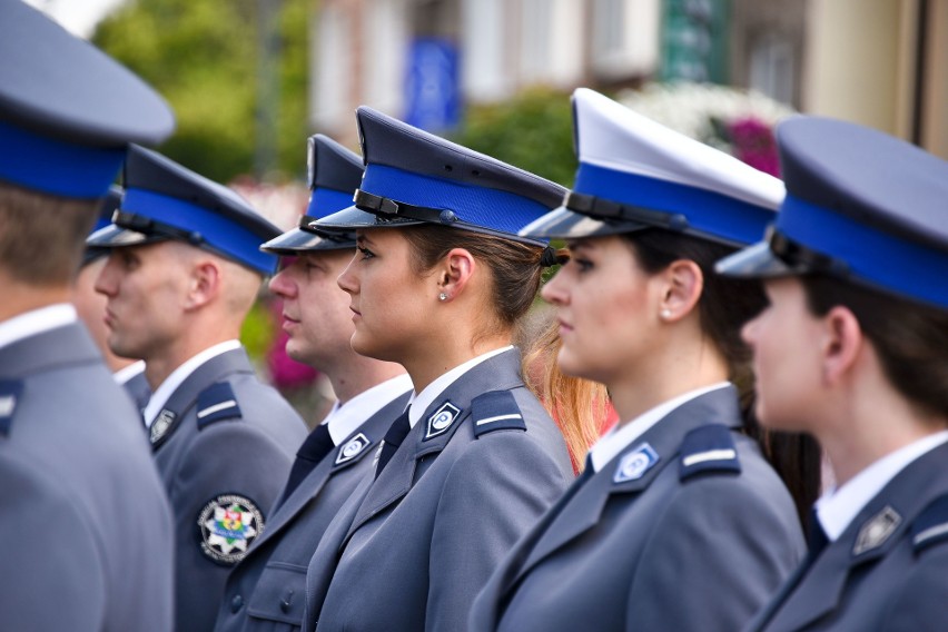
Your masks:
<path fill-rule="evenodd" d="M 216 630 L 274 632 L 303 625 L 309 560 L 356 485 L 372 477 L 375 447 L 408 405 L 409 394 L 366 419 L 275 507 L 266 532 L 230 572 Z"/>

